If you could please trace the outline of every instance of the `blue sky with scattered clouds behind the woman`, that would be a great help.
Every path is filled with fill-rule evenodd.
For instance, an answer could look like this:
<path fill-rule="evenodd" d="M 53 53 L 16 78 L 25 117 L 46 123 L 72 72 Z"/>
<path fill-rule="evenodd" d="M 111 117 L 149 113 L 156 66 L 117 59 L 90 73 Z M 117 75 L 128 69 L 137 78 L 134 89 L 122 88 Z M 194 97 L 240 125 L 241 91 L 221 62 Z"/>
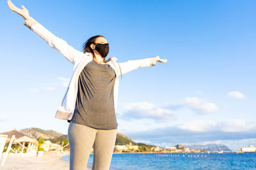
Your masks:
<path fill-rule="evenodd" d="M 91 36 L 118 62 L 159 55 L 124 75 L 118 131 L 138 142 L 256 145 L 255 1 L 12 1 L 77 50 Z M 67 134 L 54 118 L 72 72 L 60 53 L 1 10 L 0 131 L 39 127 Z"/>

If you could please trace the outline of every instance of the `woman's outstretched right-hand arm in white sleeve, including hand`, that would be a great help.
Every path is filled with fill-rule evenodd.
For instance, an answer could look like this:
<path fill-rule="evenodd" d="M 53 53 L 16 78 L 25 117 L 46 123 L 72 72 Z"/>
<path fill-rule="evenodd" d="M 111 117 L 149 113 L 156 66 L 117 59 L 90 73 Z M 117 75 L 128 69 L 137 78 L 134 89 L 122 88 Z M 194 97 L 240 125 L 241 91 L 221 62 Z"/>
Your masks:
<path fill-rule="evenodd" d="M 159 56 L 156 56 L 154 58 L 148 58 L 148 59 L 141 59 L 141 60 L 129 60 L 127 62 L 118 62 L 120 66 L 121 74 L 128 73 L 129 71 L 132 71 L 134 69 L 138 69 L 140 67 L 149 67 L 149 66 L 155 66 L 156 62 L 167 62 L 166 59 L 160 59 Z"/>

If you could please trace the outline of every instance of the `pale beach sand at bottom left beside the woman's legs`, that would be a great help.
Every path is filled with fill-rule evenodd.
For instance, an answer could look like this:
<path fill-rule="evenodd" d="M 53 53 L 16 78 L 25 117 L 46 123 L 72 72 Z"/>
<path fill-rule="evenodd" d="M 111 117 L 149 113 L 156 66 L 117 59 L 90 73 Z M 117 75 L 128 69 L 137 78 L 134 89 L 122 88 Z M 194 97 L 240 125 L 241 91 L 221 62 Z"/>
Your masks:
<path fill-rule="evenodd" d="M 42 162 L 46 160 L 56 159 L 55 153 L 46 153 L 43 157 L 19 157 L 19 156 L 9 156 L 7 157 L 4 166 L 0 166 L 2 170 L 9 169 L 27 169 L 27 170 L 68 170 L 69 162 L 60 159 L 53 160 L 51 162 Z M 2 157 L 3 158 L 3 157 Z M 2 160 L 2 159 L 1 159 Z M 89 170 L 91 168 L 88 168 Z"/>

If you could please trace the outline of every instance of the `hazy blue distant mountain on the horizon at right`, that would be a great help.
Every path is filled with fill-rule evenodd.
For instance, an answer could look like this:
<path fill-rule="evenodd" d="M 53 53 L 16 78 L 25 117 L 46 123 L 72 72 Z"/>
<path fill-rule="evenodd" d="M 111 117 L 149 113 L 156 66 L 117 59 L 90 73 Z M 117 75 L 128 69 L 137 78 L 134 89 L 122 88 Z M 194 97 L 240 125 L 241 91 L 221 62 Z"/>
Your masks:
<path fill-rule="evenodd" d="M 228 146 L 223 144 L 208 144 L 208 145 L 186 145 L 186 148 L 194 148 L 196 150 L 207 150 L 207 151 L 221 151 L 231 152 Z"/>

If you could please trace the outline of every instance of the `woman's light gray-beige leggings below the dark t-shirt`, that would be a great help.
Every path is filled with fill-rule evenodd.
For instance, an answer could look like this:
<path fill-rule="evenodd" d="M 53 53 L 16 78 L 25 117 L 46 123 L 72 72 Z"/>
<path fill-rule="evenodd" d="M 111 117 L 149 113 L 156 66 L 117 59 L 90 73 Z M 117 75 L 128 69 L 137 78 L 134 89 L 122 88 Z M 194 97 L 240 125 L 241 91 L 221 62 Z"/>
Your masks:
<path fill-rule="evenodd" d="M 70 170 L 84 170 L 93 147 L 93 170 L 108 170 L 115 147 L 117 129 L 94 129 L 70 122 Z"/>

